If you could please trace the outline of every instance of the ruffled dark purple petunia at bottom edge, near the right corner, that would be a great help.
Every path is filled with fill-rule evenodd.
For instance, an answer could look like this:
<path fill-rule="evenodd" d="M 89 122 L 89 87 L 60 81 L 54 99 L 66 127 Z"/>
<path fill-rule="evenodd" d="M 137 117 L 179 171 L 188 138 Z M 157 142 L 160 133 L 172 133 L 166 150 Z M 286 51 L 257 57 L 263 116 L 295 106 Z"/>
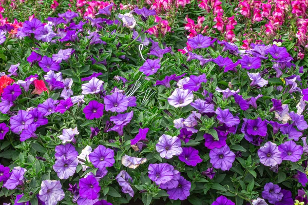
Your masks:
<path fill-rule="evenodd" d="M 267 199 L 269 203 L 276 203 L 282 199 L 283 194 L 281 193 L 281 188 L 278 185 L 274 185 L 274 183 L 269 182 L 264 186 L 262 197 Z"/>

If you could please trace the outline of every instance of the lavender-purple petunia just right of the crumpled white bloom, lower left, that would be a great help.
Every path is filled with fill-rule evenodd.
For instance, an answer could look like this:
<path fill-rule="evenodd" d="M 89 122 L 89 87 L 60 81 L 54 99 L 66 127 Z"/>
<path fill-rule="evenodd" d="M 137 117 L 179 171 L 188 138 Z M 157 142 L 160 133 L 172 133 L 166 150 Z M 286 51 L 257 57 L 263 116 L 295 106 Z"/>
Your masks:
<path fill-rule="evenodd" d="M 99 145 L 89 154 L 89 159 L 95 168 L 104 169 L 106 167 L 112 167 L 114 160 L 114 151 L 105 148 L 103 145 Z"/>

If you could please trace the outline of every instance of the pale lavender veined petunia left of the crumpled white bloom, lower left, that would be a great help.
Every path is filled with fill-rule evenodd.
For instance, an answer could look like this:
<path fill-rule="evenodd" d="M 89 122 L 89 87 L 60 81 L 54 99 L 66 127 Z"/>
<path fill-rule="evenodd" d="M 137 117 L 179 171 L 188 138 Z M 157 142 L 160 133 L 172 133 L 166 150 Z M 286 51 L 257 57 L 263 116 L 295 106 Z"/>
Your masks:
<path fill-rule="evenodd" d="M 60 179 L 68 179 L 76 172 L 77 165 L 77 158 L 65 158 L 62 156 L 57 158 L 52 168 Z"/>

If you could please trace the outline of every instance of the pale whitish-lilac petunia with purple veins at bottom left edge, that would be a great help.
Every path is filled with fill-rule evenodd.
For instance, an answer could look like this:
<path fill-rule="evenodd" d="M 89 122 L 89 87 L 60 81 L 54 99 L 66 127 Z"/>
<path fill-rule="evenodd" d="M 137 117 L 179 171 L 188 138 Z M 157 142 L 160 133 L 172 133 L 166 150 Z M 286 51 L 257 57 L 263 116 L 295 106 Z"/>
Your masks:
<path fill-rule="evenodd" d="M 60 181 L 44 180 L 38 196 L 46 205 L 56 205 L 58 201 L 64 199 L 64 191 Z"/>

